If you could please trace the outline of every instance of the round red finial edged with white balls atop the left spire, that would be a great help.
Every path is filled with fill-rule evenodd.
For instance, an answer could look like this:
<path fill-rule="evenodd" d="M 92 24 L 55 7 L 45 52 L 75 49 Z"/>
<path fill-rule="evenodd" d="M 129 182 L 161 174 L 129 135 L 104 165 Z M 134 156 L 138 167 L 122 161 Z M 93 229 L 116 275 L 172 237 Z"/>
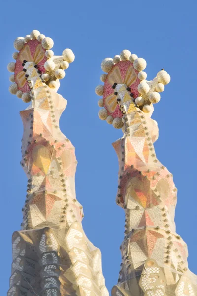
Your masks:
<path fill-rule="evenodd" d="M 12 55 L 16 62 L 11 62 L 7 66 L 9 72 L 14 72 L 14 75 L 9 78 L 11 82 L 14 82 L 9 87 L 11 94 L 16 94 L 24 102 L 31 100 L 31 90 L 27 81 L 28 75 L 25 74 L 26 62 L 34 62 L 42 82 L 55 91 L 58 90 L 59 80 L 65 77 L 64 70 L 69 67 L 69 63 L 74 61 L 75 56 L 69 48 L 63 51 L 62 56 L 54 56 L 54 52 L 51 50 L 53 45 L 53 40 L 44 34 L 40 34 L 38 30 L 33 30 L 25 38 L 16 38 L 14 48 L 18 52 L 14 52 Z"/>

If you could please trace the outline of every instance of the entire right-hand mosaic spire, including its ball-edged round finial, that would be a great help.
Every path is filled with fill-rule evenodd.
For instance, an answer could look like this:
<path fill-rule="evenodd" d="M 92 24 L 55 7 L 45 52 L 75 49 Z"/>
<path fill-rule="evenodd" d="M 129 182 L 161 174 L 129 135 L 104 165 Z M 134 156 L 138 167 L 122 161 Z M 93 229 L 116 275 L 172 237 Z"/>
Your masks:
<path fill-rule="evenodd" d="M 125 237 L 118 284 L 112 296 L 196 296 L 197 276 L 188 269 L 187 245 L 176 233 L 177 189 L 156 157 L 157 122 L 153 104 L 170 82 L 162 69 L 147 81 L 146 61 L 123 50 L 106 58 L 96 94 L 99 118 L 123 137 L 113 143 L 119 161 L 116 202 L 125 211 Z"/>

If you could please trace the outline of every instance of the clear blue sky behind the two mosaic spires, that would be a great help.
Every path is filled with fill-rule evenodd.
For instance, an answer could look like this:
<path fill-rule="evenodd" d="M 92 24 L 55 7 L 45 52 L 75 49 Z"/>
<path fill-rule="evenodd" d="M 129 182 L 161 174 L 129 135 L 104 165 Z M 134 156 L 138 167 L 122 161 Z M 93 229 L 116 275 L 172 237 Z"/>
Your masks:
<path fill-rule="evenodd" d="M 148 79 L 164 68 L 171 75 L 153 118 L 160 136 L 159 160 L 174 174 L 178 188 L 177 232 L 187 242 L 189 267 L 197 273 L 197 2 L 196 0 L 9 0 L 0 11 L 1 89 L 1 295 L 11 275 L 11 236 L 20 229 L 26 176 L 20 167 L 22 122 L 27 107 L 8 92 L 7 64 L 13 41 L 33 29 L 54 40 L 54 52 L 71 48 L 75 61 L 66 71 L 59 93 L 68 101 L 61 129 L 76 147 L 77 199 L 84 206 L 83 227 L 101 249 L 109 290 L 117 283 L 124 236 L 124 211 L 115 203 L 118 160 L 111 143 L 121 137 L 99 119 L 95 87 L 100 63 L 123 49 L 147 61 Z"/>

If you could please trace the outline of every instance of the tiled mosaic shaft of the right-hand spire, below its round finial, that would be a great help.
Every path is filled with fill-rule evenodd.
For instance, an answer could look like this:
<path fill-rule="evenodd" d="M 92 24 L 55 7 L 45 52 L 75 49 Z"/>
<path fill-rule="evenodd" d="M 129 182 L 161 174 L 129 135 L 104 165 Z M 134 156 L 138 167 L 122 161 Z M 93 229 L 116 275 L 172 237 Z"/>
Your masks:
<path fill-rule="evenodd" d="M 187 245 L 175 228 L 177 189 L 153 145 L 158 127 L 135 100 L 123 99 L 127 85 L 112 82 L 116 82 L 116 98 L 120 98 L 117 105 L 124 111 L 125 132 L 113 146 L 119 160 L 116 202 L 126 216 L 121 271 L 112 295 L 197 295 L 197 276 L 188 269 Z M 108 100 L 105 93 L 103 97 Z"/>

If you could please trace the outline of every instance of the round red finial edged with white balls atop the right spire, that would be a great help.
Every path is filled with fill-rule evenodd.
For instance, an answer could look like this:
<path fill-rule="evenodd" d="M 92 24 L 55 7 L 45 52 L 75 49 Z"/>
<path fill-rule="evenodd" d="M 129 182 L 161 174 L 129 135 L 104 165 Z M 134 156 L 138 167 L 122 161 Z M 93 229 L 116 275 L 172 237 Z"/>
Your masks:
<path fill-rule="evenodd" d="M 121 108 L 123 102 L 132 100 L 141 111 L 151 116 L 153 104 L 160 101 L 159 93 L 170 82 L 170 76 L 164 69 L 152 81 L 146 80 L 146 61 L 129 50 L 123 50 L 113 59 L 104 59 L 101 68 L 107 74 L 100 76 L 104 85 L 95 89 L 98 96 L 103 96 L 98 101 L 99 107 L 103 107 L 99 110 L 99 118 L 115 128 L 123 127 L 122 117 L 127 114 Z"/>

